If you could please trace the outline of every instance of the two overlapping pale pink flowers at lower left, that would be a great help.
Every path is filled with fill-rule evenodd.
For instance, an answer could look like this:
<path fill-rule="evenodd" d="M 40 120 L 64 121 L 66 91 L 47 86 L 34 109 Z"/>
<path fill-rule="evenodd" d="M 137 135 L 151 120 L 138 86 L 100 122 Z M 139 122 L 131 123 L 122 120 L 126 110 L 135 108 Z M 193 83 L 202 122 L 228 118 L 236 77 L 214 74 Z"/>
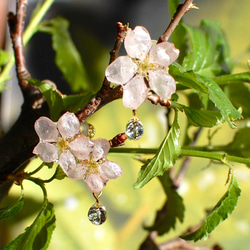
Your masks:
<path fill-rule="evenodd" d="M 57 123 L 40 117 L 35 130 L 40 141 L 33 153 L 44 162 L 57 162 L 69 178 L 83 179 L 91 192 L 101 192 L 109 179 L 121 176 L 121 167 L 106 159 L 109 141 L 83 135 L 75 114 L 66 112 Z"/>

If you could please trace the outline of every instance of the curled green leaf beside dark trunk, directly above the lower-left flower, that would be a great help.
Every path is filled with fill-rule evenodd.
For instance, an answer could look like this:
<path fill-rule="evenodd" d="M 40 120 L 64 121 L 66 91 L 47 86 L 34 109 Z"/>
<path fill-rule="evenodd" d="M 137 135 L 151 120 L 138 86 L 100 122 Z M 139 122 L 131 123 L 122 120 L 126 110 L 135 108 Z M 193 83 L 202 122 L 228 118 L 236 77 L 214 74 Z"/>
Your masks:
<path fill-rule="evenodd" d="M 49 105 L 50 118 L 53 121 L 57 121 L 64 109 L 62 95 L 57 91 L 55 86 L 47 82 L 40 82 L 37 79 L 29 79 L 28 81 L 41 90 Z"/>

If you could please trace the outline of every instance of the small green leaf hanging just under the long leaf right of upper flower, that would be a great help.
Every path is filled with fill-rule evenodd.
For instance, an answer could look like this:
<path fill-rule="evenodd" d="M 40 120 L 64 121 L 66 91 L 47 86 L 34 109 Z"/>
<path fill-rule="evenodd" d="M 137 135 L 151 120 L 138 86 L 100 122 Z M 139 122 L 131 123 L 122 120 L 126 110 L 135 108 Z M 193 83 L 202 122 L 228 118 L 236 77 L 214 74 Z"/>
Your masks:
<path fill-rule="evenodd" d="M 186 106 L 183 109 L 190 124 L 196 127 L 211 128 L 224 122 L 219 111 L 190 109 Z"/>

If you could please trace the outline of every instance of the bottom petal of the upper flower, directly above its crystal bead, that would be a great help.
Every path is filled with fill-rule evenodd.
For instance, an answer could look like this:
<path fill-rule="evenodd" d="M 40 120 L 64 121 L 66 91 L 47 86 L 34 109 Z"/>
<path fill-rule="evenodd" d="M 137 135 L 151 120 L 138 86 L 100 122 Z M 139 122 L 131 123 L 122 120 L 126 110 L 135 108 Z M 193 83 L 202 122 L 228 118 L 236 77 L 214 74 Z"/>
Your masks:
<path fill-rule="evenodd" d="M 137 109 L 147 98 L 148 89 L 141 75 L 132 78 L 123 86 L 123 105 Z"/>

